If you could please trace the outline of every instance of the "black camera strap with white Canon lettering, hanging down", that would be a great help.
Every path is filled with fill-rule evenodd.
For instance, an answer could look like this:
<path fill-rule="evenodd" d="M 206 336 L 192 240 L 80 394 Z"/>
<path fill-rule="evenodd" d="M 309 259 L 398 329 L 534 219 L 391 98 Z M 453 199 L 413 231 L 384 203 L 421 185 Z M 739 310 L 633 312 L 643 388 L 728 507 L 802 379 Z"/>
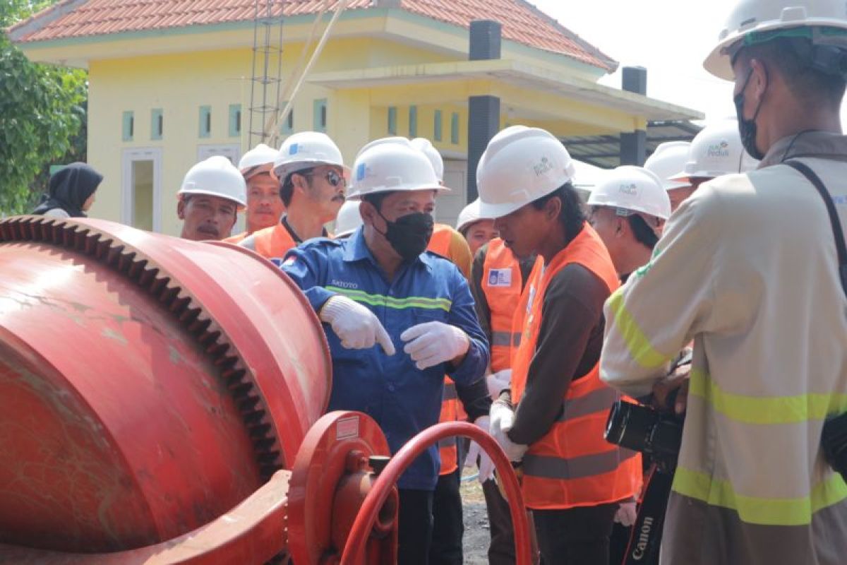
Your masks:
<path fill-rule="evenodd" d="M 650 466 L 650 476 L 641 499 L 638 518 L 635 518 L 629 537 L 623 565 L 656 565 L 659 562 L 662 527 L 672 484 L 673 473 L 663 471 L 656 463 Z"/>

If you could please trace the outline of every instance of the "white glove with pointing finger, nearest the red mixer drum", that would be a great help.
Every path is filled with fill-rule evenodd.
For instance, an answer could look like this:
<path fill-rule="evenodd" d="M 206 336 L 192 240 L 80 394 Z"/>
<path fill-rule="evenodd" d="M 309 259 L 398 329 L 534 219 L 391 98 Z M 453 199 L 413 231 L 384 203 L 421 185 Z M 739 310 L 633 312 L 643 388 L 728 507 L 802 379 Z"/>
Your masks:
<path fill-rule="evenodd" d="M 326 301 L 320 319 L 332 326 L 347 349 L 370 349 L 379 343 L 388 355 L 395 353 L 388 332 L 374 313 L 346 296 L 336 295 Z"/>

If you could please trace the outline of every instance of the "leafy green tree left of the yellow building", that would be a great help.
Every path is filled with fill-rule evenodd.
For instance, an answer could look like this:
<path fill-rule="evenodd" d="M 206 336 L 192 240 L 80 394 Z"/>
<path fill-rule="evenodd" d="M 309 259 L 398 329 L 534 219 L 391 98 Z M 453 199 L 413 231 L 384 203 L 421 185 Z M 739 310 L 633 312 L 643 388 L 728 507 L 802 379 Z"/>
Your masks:
<path fill-rule="evenodd" d="M 0 28 L 54 1 L 0 0 Z M 32 208 L 51 163 L 85 159 L 87 96 L 85 71 L 33 64 L 0 31 L 0 215 Z"/>

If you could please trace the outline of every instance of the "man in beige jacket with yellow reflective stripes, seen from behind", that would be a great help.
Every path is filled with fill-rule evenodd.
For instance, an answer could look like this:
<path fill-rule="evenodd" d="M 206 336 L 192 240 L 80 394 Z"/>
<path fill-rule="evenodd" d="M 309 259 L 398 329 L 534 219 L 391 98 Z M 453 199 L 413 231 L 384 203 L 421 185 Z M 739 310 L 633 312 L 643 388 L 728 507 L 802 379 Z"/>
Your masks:
<path fill-rule="evenodd" d="M 847 485 L 822 425 L 847 412 L 847 298 L 827 208 L 847 228 L 844 3 L 742 0 L 706 59 L 735 81 L 759 169 L 700 189 L 653 258 L 606 302 L 601 378 L 633 396 L 692 339 L 694 362 L 662 563 L 835 565 Z"/>

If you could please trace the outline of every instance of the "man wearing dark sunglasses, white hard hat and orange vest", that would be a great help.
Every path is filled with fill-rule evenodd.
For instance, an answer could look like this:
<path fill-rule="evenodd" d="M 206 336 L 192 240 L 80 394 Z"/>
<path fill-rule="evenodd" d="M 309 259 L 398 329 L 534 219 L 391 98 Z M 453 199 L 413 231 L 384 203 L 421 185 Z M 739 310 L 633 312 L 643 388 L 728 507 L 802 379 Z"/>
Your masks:
<path fill-rule="evenodd" d="M 285 215 L 280 223 L 241 241 L 264 258 L 282 258 L 291 247 L 326 237 L 324 224 L 335 219 L 345 200 L 349 169 L 329 136 L 303 131 L 290 136 L 274 161 Z"/>

